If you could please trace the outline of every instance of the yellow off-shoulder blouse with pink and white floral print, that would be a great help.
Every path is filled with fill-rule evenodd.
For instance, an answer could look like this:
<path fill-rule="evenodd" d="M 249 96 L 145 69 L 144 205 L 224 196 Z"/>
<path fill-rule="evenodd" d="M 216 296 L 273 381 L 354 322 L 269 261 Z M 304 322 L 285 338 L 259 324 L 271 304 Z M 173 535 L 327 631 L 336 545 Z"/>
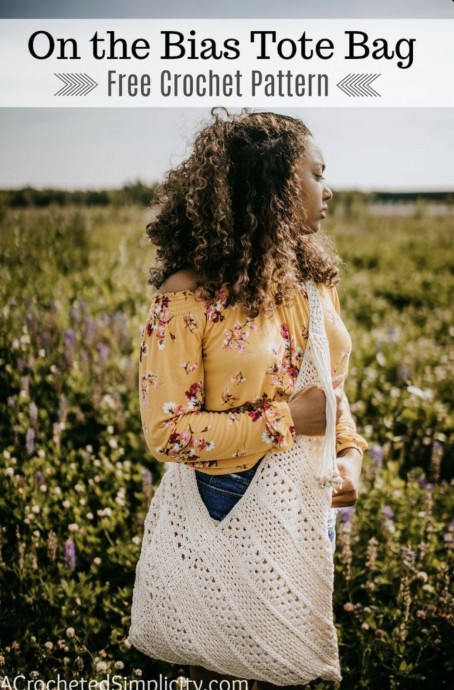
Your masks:
<path fill-rule="evenodd" d="M 335 288 L 320 287 L 333 381 L 343 385 L 351 351 Z M 309 328 L 304 290 L 273 315 L 248 317 L 200 291 L 158 293 L 143 329 L 140 363 L 142 427 L 151 454 L 207 474 L 251 468 L 270 450 L 287 450 L 295 430 L 287 403 Z M 368 446 L 349 409 L 336 428 L 337 452 Z"/>

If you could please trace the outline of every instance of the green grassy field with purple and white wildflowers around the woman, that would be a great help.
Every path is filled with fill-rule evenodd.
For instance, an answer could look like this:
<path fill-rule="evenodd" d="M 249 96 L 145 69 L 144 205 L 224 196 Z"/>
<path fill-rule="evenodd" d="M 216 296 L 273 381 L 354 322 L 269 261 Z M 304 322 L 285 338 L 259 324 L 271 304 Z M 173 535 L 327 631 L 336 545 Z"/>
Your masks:
<path fill-rule="evenodd" d="M 0 676 L 169 679 L 126 636 L 143 520 L 163 466 L 142 439 L 149 211 L 4 208 L 0 226 Z M 448 688 L 454 620 L 452 216 L 336 209 L 368 439 L 342 511 L 342 690 Z M 313 683 L 316 690 L 334 687 Z"/>

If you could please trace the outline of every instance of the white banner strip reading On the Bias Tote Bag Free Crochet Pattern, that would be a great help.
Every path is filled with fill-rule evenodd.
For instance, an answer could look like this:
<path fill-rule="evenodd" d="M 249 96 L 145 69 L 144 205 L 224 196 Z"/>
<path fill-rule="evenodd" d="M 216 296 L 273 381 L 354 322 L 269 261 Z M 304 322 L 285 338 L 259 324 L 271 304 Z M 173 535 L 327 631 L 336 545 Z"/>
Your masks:
<path fill-rule="evenodd" d="M 0 20 L 1 107 L 454 107 L 454 19 Z"/>

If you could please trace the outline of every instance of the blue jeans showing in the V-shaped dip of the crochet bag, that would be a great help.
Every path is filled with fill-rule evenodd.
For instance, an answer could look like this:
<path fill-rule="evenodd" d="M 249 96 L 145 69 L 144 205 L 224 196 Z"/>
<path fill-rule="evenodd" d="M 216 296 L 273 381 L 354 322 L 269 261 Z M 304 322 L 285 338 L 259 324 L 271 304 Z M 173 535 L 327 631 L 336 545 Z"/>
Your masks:
<path fill-rule="evenodd" d="M 231 474 L 214 475 L 194 470 L 200 496 L 214 520 L 223 520 L 233 506 L 238 503 L 241 496 L 246 493 L 246 489 L 260 463 L 261 460 L 249 470 Z M 338 510 L 339 508 L 331 508 L 328 515 L 328 537 L 333 553 L 336 549 L 336 515 Z"/>

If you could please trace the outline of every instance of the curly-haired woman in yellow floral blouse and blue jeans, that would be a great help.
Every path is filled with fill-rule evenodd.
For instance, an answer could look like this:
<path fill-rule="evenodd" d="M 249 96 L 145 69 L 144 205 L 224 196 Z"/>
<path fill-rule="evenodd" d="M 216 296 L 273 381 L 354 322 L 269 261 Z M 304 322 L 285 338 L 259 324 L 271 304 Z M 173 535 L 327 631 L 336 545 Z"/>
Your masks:
<path fill-rule="evenodd" d="M 167 175 L 147 227 L 158 292 L 140 356 L 145 438 L 156 459 L 195 472 L 220 523 L 268 453 L 285 453 L 299 436 L 324 436 L 323 390 L 307 386 L 291 397 L 310 329 L 302 284 L 313 281 L 336 395 L 334 550 L 334 510 L 356 502 L 367 443 L 343 393 L 351 341 L 339 316 L 338 257 L 319 232 L 333 196 L 323 156 L 301 120 L 212 114 L 191 156 Z M 194 665 L 190 676 L 232 679 Z M 254 690 L 265 687 L 274 685 L 256 680 Z"/>

